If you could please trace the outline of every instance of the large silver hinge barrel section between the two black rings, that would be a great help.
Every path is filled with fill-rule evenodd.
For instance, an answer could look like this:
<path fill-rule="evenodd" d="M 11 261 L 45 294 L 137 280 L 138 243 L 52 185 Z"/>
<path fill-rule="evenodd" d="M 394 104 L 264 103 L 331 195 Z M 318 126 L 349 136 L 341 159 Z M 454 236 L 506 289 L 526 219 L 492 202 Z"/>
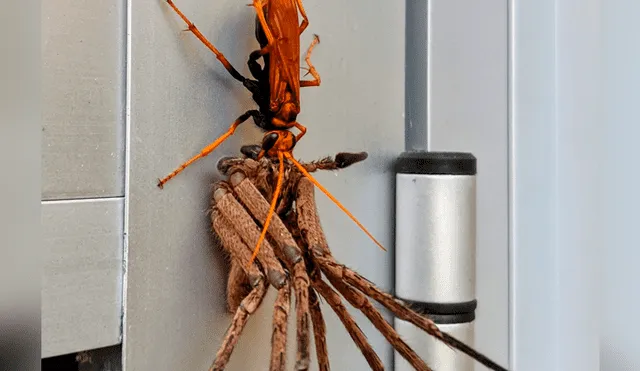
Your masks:
<path fill-rule="evenodd" d="M 396 175 L 396 296 L 476 299 L 476 177 Z"/>

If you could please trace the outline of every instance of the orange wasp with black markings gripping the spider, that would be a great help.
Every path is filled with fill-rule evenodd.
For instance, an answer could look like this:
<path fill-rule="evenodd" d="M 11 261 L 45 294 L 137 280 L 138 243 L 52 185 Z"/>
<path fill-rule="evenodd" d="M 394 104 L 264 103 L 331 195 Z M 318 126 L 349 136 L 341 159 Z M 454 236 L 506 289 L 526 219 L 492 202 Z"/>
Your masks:
<path fill-rule="evenodd" d="M 275 212 L 276 203 L 282 188 L 284 172 L 284 159 L 290 160 L 304 176 L 309 178 L 323 193 L 327 195 L 343 212 L 345 212 L 378 246 L 384 247 L 358 222 L 358 220 L 333 197 L 311 174 L 309 174 L 298 161 L 293 158 L 292 151 L 296 143 L 304 136 L 307 129 L 296 121 L 300 113 L 300 87 L 320 86 L 320 75 L 311 64 L 311 52 L 320 42 L 317 35 L 307 50 L 305 62 L 308 73 L 313 80 L 300 80 L 300 34 L 309 25 L 309 20 L 302 6 L 302 0 L 253 0 L 256 10 L 256 39 L 260 49 L 255 50 L 249 56 L 247 65 L 255 80 L 242 76 L 227 58 L 216 49 L 213 44 L 202 35 L 200 30 L 176 7 L 172 0 L 166 0 L 171 8 L 184 20 L 191 31 L 203 44 L 211 50 L 231 76 L 252 93 L 253 100 L 257 103 L 258 110 L 249 110 L 240 115 L 231 124 L 231 127 L 216 139 L 213 143 L 203 148 L 200 153 L 181 164 L 171 174 L 158 182 L 162 188 L 166 182 L 175 177 L 200 158 L 210 154 L 216 147 L 229 138 L 236 128 L 249 119 L 266 131 L 257 159 L 263 156 L 278 158 L 280 163 L 279 176 L 269 214 L 265 221 L 262 234 L 254 249 L 255 259 L 262 241 L 265 238 L 271 217 Z M 302 23 L 298 23 L 298 13 L 302 15 Z M 263 66 L 258 63 L 262 58 Z M 295 135 L 289 129 L 297 128 L 300 133 Z"/>

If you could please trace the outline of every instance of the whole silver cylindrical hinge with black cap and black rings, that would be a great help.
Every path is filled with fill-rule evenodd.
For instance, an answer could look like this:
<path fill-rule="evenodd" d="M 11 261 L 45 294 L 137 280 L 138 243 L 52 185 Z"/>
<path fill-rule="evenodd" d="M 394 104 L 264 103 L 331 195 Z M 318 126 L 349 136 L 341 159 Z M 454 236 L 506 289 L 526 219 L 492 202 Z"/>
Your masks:
<path fill-rule="evenodd" d="M 395 294 L 473 346 L 476 302 L 476 158 L 406 152 L 396 170 Z M 439 371 L 473 362 L 395 319 L 400 336 Z M 468 358 L 468 357 L 466 357 Z M 395 370 L 411 370 L 396 353 Z"/>

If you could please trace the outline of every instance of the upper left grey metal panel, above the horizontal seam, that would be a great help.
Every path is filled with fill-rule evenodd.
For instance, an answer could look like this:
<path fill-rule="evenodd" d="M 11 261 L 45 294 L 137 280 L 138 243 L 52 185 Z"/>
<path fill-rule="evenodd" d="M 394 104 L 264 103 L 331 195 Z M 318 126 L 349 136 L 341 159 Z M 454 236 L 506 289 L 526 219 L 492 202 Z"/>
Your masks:
<path fill-rule="evenodd" d="M 42 2 L 42 198 L 124 195 L 124 0 Z"/>

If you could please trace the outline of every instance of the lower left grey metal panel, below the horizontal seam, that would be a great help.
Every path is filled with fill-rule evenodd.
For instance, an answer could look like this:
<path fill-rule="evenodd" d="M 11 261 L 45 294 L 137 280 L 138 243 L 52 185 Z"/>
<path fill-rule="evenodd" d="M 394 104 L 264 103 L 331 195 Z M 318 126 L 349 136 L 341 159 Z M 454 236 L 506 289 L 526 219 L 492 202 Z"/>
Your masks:
<path fill-rule="evenodd" d="M 124 201 L 42 203 L 42 357 L 120 342 Z"/>

